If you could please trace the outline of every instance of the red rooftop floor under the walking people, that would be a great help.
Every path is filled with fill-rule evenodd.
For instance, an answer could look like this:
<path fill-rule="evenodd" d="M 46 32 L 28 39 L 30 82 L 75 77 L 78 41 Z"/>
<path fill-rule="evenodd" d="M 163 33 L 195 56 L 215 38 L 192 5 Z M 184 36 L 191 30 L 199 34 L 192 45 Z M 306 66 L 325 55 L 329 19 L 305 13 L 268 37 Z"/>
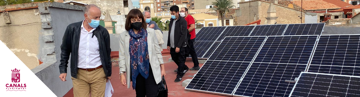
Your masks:
<path fill-rule="evenodd" d="M 164 65 L 166 70 L 166 83 L 167 88 L 169 90 L 169 96 L 168 97 L 229 97 L 229 96 L 222 96 L 217 94 L 210 94 L 210 93 L 202 93 L 202 92 L 194 92 L 194 91 L 186 91 L 182 86 L 182 82 L 185 79 L 192 79 L 193 77 L 189 77 L 189 75 L 194 75 L 197 73 L 197 71 L 190 70 L 185 73 L 183 80 L 181 82 L 175 83 L 174 80 L 176 78 L 176 73 L 174 70 L 177 68 L 177 65 L 174 62 L 168 61 L 168 59 L 171 56 L 163 55 L 164 59 Z M 185 63 L 189 68 L 193 67 L 193 62 L 190 58 L 186 59 Z M 199 66 L 202 66 L 203 64 L 199 64 Z M 119 79 L 119 66 L 113 66 L 112 67 L 112 79 L 111 84 L 114 88 L 114 93 L 112 97 L 135 97 L 135 90 L 132 90 L 132 88 L 127 88 L 126 86 L 122 86 Z M 70 79 L 69 77 L 67 79 Z M 71 81 L 71 80 L 67 80 Z M 70 89 L 69 92 L 67 92 L 63 97 L 73 97 L 73 89 Z"/>

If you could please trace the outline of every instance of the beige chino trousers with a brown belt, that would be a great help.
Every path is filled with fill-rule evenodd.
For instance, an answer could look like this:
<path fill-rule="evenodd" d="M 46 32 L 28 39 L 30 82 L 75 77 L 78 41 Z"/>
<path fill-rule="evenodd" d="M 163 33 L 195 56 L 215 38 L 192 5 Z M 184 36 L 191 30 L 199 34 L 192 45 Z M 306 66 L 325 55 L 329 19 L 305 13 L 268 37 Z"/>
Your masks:
<path fill-rule="evenodd" d="M 103 68 L 93 71 L 77 70 L 77 78 L 72 79 L 74 97 L 104 97 L 106 75 Z M 91 90 L 90 90 L 91 89 Z"/>

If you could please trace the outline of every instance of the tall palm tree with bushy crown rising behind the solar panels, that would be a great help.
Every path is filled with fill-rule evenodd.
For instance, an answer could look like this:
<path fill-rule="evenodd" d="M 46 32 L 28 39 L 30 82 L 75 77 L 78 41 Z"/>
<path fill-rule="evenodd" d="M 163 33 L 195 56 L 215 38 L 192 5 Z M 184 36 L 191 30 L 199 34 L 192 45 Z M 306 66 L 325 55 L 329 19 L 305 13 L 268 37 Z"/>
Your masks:
<path fill-rule="evenodd" d="M 212 2 L 213 7 L 210 9 L 216 11 L 217 15 L 221 17 L 221 26 L 224 26 L 224 15 L 229 12 L 229 9 L 235 7 L 231 0 L 215 0 Z"/>

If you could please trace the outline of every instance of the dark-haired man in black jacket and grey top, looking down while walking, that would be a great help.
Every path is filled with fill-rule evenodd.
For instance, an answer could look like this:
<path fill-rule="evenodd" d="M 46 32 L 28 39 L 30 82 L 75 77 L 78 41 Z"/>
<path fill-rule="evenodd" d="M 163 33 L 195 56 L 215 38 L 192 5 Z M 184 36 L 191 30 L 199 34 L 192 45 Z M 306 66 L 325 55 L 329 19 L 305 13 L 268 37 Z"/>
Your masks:
<path fill-rule="evenodd" d="M 188 45 L 187 22 L 180 17 L 179 7 L 173 5 L 170 7 L 171 19 L 169 24 L 169 35 L 167 40 L 167 50 L 170 51 L 171 58 L 177 65 L 177 75 L 175 82 L 180 82 L 184 74 L 189 70 L 185 65 L 185 49 Z"/>

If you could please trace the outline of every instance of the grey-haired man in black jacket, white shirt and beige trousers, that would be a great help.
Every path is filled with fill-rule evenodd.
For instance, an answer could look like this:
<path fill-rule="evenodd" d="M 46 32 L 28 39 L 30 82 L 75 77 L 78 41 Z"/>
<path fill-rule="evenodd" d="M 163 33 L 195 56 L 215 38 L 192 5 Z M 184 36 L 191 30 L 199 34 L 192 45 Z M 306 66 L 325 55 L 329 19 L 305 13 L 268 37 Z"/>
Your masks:
<path fill-rule="evenodd" d="M 111 79 L 110 37 L 107 29 L 99 26 L 100 16 L 98 6 L 86 5 L 85 19 L 69 24 L 63 36 L 59 78 L 66 81 L 71 54 L 74 97 L 89 97 L 90 91 L 93 97 L 104 97 L 106 82 Z"/>

